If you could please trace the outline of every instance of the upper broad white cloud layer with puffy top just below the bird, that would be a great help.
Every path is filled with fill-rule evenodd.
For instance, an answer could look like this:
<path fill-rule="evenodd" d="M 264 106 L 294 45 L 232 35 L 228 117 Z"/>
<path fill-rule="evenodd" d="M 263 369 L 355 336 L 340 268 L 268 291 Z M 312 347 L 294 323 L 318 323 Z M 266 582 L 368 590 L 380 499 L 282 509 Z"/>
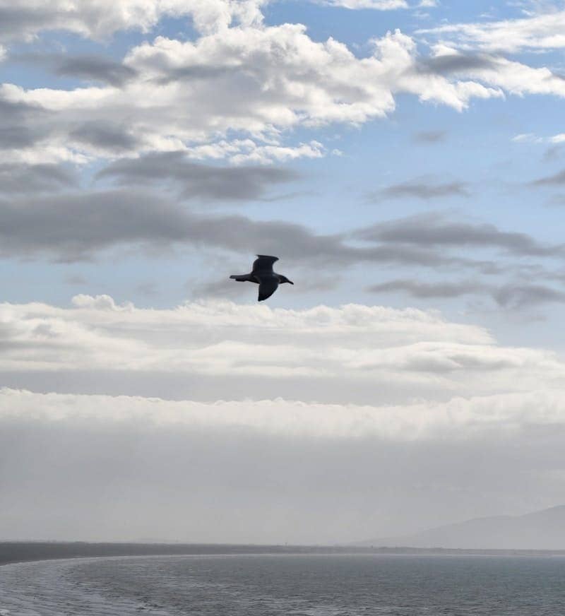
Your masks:
<path fill-rule="evenodd" d="M 316 384 L 321 391 L 386 384 L 403 400 L 528 391 L 565 380 L 565 365 L 552 353 L 505 348 L 482 328 L 416 309 L 196 302 L 156 310 L 78 295 L 69 309 L 1 304 L 0 321 L 1 372 L 150 374 L 156 389 L 169 377 L 201 375 L 214 377 L 208 398 L 230 396 L 230 379 L 242 379 L 250 392 L 262 379 L 278 381 L 281 392 L 292 384 L 298 397 Z M 382 401 L 378 390 L 373 399 Z"/>

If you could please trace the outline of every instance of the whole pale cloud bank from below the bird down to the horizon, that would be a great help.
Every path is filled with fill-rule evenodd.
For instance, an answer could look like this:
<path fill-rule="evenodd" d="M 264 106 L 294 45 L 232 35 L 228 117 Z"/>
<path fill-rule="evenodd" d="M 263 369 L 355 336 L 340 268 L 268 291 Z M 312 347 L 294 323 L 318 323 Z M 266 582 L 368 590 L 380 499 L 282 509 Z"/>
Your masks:
<path fill-rule="evenodd" d="M 438 312 L 77 295 L 0 324 L 4 538 L 335 543 L 563 494 L 564 362 Z"/>

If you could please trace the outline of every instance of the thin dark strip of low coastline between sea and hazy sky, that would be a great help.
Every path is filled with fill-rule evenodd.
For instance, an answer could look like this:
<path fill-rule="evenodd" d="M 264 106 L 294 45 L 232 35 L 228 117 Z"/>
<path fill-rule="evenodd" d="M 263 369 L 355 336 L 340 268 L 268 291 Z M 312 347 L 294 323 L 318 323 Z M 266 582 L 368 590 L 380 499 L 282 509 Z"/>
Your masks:
<path fill-rule="evenodd" d="M 0 541 L 0 566 L 16 562 L 114 556 L 189 555 L 482 555 L 565 556 L 565 550 L 458 550 L 422 547 L 352 547 L 341 545 L 233 545 L 181 543 L 87 543 L 57 541 Z"/>

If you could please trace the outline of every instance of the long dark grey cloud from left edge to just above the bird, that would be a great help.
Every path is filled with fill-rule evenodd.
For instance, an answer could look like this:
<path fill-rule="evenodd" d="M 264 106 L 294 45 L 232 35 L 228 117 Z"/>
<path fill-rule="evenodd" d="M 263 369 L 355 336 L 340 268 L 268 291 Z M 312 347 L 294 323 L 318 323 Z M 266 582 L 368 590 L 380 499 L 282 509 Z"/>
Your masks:
<path fill-rule="evenodd" d="M 174 244 L 249 251 L 249 245 L 282 249 L 311 244 L 339 251 L 290 223 L 254 223 L 243 216 L 193 215 L 143 191 L 110 190 L 0 200 L 1 254 L 51 254 L 64 261 L 88 259 L 118 245 Z M 278 237 L 277 237 L 278 236 Z"/>

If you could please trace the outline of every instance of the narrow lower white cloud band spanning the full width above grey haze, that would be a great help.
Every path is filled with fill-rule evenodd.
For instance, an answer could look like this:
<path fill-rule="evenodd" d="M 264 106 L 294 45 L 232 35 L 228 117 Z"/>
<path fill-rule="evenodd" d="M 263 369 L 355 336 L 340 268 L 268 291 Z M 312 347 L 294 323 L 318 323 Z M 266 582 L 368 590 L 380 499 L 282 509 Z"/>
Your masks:
<path fill-rule="evenodd" d="M 541 426 L 565 428 L 565 393 L 558 389 L 504 393 L 405 405 L 340 405 L 273 400 L 167 401 L 141 396 L 32 393 L 0 389 L 0 422 L 102 423 L 192 430 L 249 430 L 283 437 L 394 442 L 448 437 L 467 441 L 484 433 L 515 434 Z"/>

